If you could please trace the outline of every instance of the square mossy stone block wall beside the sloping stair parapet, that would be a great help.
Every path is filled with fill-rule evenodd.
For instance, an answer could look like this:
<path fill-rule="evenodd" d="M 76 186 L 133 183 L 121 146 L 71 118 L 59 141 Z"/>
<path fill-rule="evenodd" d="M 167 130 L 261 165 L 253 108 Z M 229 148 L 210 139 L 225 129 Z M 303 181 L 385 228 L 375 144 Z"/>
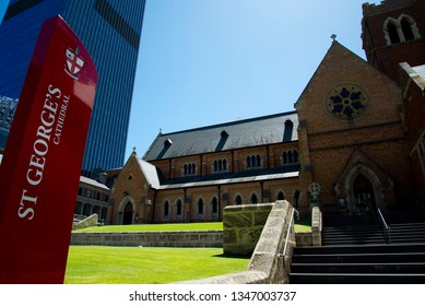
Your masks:
<path fill-rule="evenodd" d="M 272 208 L 273 203 L 226 207 L 223 213 L 223 252 L 251 255 Z"/>

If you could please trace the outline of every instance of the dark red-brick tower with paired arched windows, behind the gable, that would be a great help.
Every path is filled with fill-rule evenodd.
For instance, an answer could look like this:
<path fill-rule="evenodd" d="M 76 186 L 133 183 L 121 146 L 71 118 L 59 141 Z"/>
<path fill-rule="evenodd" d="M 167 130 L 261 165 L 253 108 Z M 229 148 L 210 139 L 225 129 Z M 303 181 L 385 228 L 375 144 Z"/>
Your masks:
<path fill-rule="evenodd" d="M 425 62 L 425 0 L 363 4 L 362 39 L 367 61 L 399 82 L 399 63 Z"/>

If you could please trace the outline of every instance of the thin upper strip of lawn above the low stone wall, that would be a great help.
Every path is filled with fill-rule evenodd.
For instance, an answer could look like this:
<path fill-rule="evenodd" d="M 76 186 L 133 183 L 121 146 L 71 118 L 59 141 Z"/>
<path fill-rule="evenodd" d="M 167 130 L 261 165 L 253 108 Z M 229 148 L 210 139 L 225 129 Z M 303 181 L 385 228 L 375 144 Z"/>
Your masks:
<path fill-rule="evenodd" d="M 134 225 L 105 225 L 93 226 L 75 232 L 79 233 L 105 233 L 105 232 L 173 232 L 173 231 L 206 231 L 223 229 L 222 222 L 210 223 L 166 223 L 166 224 L 134 224 Z M 311 225 L 309 220 L 299 220 L 295 223 L 295 232 L 309 232 Z"/>

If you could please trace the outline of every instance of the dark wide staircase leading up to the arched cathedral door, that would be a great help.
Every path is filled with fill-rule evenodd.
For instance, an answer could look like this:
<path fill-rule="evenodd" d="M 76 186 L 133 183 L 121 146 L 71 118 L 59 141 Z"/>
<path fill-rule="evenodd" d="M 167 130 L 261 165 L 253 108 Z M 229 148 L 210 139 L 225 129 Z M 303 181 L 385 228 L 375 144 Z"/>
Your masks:
<path fill-rule="evenodd" d="M 290 283 L 425 283 L 425 222 L 412 212 L 385 214 L 387 244 L 369 215 L 327 216 L 321 247 L 296 247 Z"/>

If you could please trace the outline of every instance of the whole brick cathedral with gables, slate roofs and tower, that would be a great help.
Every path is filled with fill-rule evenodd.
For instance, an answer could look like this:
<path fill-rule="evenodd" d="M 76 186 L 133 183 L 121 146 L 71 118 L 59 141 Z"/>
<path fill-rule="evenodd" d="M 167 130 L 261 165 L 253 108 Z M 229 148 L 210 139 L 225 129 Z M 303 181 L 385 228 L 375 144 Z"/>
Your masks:
<path fill-rule="evenodd" d="M 222 220 L 288 200 L 300 213 L 424 210 L 425 0 L 363 4 L 367 61 L 333 40 L 295 109 L 160 133 L 109 172 L 107 223 Z"/>

